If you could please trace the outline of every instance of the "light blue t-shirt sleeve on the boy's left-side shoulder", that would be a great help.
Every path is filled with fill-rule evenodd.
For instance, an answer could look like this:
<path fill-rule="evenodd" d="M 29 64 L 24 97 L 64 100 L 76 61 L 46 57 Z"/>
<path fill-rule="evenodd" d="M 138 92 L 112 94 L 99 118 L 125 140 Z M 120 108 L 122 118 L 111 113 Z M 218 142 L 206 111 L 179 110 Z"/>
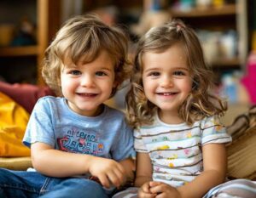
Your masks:
<path fill-rule="evenodd" d="M 47 99 L 39 99 L 29 122 L 27 123 L 26 132 L 23 138 L 23 144 L 30 147 L 35 142 L 42 142 L 55 146 L 54 130 L 52 125 L 52 112 Z"/>

